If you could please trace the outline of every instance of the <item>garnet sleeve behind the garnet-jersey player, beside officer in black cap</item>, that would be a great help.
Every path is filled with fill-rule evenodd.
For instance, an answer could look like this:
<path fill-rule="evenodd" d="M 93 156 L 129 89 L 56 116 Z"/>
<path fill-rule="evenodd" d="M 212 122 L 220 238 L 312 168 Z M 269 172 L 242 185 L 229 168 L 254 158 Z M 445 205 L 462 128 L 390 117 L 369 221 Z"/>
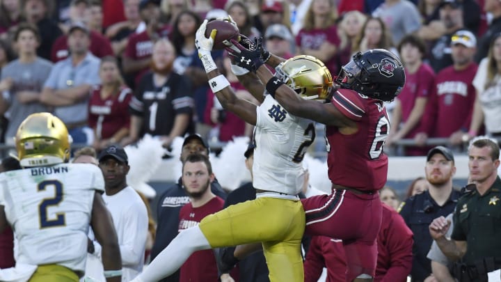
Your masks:
<path fill-rule="evenodd" d="M 395 212 L 391 214 L 386 242 L 390 268 L 382 281 L 406 281 L 413 265 L 413 233 L 406 226 L 404 219 Z"/>

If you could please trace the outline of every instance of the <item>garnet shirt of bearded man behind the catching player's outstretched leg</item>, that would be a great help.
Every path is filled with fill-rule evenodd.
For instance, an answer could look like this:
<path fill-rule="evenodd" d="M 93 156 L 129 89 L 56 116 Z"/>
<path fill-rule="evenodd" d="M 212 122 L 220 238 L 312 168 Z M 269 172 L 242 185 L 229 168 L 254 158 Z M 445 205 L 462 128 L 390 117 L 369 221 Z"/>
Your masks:
<path fill-rule="evenodd" d="M 197 226 L 209 214 L 223 210 L 224 200 L 215 196 L 201 207 L 187 203 L 180 211 L 179 231 Z M 184 262 L 180 269 L 180 282 L 206 281 L 217 282 L 218 269 L 212 249 L 196 251 Z"/>

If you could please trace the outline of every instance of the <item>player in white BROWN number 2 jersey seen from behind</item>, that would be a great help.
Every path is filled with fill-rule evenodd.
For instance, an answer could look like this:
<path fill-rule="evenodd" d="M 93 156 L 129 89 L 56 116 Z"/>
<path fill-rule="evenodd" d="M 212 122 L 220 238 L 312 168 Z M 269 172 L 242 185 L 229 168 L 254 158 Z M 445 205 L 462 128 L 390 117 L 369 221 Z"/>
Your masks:
<path fill-rule="evenodd" d="M 67 164 L 70 137 L 51 113 L 28 116 L 15 142 L 24 169 L 0 174 L 0 232 L 12 226 L 18 253 L 14 269 L 0 270 L 0 281 L 79 281 L 89 226 L 102 244 L 106 280 L 120 281 L 120 249 L 101 197 L 101 170 Z"/>

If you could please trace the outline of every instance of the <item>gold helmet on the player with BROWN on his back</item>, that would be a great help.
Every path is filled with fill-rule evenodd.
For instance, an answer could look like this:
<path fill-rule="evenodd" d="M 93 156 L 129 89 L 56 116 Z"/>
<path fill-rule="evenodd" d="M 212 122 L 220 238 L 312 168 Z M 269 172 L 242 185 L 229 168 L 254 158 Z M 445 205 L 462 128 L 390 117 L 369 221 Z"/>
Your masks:
<path fill-rule="evenodd" d="M 32 113 L 17 129 L 17 157 L 21 166 L 47 166 L 70 159 L 71 137 L 65 124 L 51 113 Z"/>

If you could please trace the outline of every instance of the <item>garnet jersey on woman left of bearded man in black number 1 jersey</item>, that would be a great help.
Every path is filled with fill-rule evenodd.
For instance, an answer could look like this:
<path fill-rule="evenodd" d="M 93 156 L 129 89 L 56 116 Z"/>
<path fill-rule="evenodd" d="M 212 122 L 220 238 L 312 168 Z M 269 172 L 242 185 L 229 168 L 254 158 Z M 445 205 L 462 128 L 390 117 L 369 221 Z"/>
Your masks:
<path fill-rule="evenodd" d="M 88 103 L 88 125 L 96 132 L 98 139 L 109 139 L 122 128 L 129 128 L 129 102 L 132 91 L 120 88 L 115 95 L 101 97 L 101 86 L 96 86 Z"/>

